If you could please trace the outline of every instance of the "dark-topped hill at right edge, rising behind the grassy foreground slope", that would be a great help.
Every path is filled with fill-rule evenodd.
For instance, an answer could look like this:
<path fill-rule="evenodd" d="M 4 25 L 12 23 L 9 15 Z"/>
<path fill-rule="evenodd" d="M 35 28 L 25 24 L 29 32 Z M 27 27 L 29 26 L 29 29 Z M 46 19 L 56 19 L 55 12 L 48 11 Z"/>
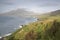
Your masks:
<path fill-rule="evenodd" d="M 48 19 L 48 18 L 52 18 L 52 17 L 56 17 L 56 16 L 60 16 L 60 10 L 56 10 L 56 11 L 52 11 L 52 12 L 48 12 L 42 15 L 38 15 L 37 18 L 38 20 L 44 20 L 44 19 Z"/>

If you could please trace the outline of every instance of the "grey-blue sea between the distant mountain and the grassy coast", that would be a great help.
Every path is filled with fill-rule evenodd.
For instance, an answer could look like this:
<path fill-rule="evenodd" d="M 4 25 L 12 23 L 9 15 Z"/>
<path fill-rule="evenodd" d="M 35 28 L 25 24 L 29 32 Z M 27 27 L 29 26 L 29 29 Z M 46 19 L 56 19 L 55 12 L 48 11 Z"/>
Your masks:
<path fill-rule="evenodd" d="M 19 28 L 19 25 L 35 21 L 35 18 L 22 18 L 12 16 L 0 16 L 0 36 L 11 33 Z"/>

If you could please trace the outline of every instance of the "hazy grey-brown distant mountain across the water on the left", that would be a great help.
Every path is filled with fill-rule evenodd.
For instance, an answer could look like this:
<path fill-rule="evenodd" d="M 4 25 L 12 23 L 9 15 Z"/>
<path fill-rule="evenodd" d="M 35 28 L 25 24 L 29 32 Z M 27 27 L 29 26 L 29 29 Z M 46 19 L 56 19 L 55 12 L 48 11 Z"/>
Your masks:
<path fill-rule="evenodd" d="M 17 9 L 17 10 L 12 10 L 10 12 L 6 12 L 3 14 L 0 14 L 3 16 L 31 16 L 34 15 L 33 12 L 31 11 L 26 11 L 25 9 Z"/>

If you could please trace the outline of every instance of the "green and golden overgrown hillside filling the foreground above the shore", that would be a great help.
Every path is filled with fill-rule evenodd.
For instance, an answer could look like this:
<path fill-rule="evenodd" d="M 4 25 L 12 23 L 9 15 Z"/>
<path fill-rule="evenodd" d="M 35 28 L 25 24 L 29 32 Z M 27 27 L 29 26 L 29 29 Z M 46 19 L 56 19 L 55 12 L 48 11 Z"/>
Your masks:
<path fill-rule="evenodd" d="M 39 16 L 42 20 L 23 25 L 4 40 L 60 40 L 60 16 L 45 16 Z"/>

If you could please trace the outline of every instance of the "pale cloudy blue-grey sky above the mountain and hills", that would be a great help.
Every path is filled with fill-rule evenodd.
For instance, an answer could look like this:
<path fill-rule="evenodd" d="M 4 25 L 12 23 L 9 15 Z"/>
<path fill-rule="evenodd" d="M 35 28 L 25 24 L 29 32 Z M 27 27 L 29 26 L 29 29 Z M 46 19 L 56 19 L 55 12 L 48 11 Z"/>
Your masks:
<path fill-rule="evenodd" d="M 60 0 L 0 0 L 0 13 L 19 8 L 33 12 L 50 12 L 60 9 Z"/>

